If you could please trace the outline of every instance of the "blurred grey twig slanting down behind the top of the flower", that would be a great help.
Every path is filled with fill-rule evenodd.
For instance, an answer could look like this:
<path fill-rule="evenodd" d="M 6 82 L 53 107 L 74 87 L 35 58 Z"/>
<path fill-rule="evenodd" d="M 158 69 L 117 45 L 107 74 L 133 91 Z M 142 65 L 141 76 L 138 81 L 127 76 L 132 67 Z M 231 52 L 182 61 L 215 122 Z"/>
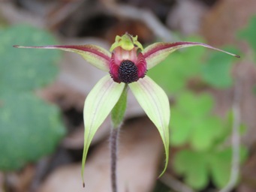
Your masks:
<path fill-rule="evenodd" d="M 115 14 L 119 17 L 126 17 L 132 20 L 139 20 L 145 23 L 152 32 L 160 37 L 163 41 L 176 41 L 177 37 L 168 28 L 166 28 L 154 13 L 150 10 L 145 10 L 131 5 L 121 5 L 110 3 L 107 4 L 105 1 L 101 1 L 110 11 L 110 14 Z"/>

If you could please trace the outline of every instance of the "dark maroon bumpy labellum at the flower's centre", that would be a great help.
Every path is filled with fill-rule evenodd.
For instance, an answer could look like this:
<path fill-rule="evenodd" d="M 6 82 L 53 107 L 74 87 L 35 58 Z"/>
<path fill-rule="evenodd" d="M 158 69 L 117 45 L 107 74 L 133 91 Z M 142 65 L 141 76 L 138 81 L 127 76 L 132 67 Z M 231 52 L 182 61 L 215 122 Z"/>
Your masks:
<path fill-rule="evenodd" d="M 119 66 L 118 77 L 123 83 L 133 83 L 139 80 L 137 66 L 129 60 L 123 61 Z"/>

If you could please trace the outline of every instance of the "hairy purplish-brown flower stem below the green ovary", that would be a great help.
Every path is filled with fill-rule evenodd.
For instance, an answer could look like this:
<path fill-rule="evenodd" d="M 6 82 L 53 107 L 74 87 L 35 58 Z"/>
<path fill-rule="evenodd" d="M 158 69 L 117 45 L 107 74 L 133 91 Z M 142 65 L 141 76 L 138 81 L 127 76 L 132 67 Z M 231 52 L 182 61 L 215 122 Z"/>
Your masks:
<path fill-rule="evenodd" d="M 112 192 L 117 192 L 116 181 L 116 161 L 117 161 L 117 143 L 118 143 L 119 127 L 113 127 L 110 134 L 110 174 Z"/>

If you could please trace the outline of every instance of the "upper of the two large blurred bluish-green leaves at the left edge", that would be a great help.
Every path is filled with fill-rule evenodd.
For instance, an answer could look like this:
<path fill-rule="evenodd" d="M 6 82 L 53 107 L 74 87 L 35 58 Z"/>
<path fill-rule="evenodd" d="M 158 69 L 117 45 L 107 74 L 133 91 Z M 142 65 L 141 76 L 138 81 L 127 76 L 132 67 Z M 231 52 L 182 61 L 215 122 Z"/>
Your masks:
<path fill-rule="evenodd" d="M 58 51 L 15 49 L 14 44 L 56 43 L 52 35 L 31 26 L 2 29 L 0 35 L 1 92 L 30 91 L 53 82 L 58 72 Z"/>

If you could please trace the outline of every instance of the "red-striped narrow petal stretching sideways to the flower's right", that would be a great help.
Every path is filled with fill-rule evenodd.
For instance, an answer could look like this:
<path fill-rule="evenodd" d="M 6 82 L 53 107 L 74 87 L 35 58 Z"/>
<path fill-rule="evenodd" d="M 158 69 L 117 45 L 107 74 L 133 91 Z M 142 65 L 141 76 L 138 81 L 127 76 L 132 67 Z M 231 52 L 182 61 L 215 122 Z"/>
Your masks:
<path fill-rule="evenodd" d="M 221 49 L 217 49 L 213 46 L 209 46 L 205 43 L 197 42 L 176 42 L 176 43 L 153 43 L 152 45 L 147 46 L 143 51 L 144 58 L 146 59 L 147 68 L 153 68 L 155 65 L 158 65 L 162 62 L 167 56 L 176 51 L 177 49 L 185 48 L 188 46 L 204 46 L 209 49 L 215 49 L 220 52 L 227 53 L 239 58 L 239 55 L 235 55 L 230 52 L 226 52 Z"/>

